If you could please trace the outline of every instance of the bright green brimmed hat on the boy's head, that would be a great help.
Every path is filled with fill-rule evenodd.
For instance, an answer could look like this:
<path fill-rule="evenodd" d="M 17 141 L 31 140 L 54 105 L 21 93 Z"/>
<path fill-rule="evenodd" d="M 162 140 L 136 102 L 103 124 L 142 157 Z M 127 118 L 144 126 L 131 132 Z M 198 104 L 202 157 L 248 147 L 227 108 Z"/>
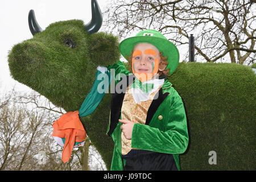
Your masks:
<path fill-rule="evenodd" d="M 119 50 L 125 59 L 127 59 L 126 56 L 131 56 L 131 51 L 138 43 L 148 43 L 158 48 L 160 52 L 163 52 L 164 57 L 167 56 L 168 65 L 166 69 L 170 68 L 169 74 L 171 75 L 175 71 L 179 64 L 179 51 L 177 47 L 159 31 L 142 30 L 138 32 L 137 35 L 123 40 L 119 44 Z"/>

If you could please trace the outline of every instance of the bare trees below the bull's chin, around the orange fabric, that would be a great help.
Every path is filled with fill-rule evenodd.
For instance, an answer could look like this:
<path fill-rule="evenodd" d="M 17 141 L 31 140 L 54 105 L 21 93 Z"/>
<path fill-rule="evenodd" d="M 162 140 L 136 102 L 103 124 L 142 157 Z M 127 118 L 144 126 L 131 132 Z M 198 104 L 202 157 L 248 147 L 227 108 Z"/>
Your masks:
<path fill-rule="evenodd" d="M 89 155 L 97 155 L 95 148 L 90 147 L 89 151 L 89 138 L 84 147 L 74 148 L 71 159 L 63 163 L 63 147 L 51 134 L 52 123 L 65 111 L 40 94 L 17 93 L 13 89 L 1 98 L 0 106 L 0 170 L 105 169 L 102 160 L 102 168 L 89 160 Z"/>

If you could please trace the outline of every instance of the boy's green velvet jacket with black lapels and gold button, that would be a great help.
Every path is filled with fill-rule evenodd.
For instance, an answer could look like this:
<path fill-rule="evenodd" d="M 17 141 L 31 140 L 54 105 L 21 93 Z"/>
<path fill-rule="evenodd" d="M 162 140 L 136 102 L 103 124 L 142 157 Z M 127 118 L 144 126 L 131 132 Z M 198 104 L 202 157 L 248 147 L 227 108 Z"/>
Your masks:
<path fill-rule="evenodd" d="M 108 69 L 115 69 L 115 73 L 124 73 L 127 78 L 133 75 L 127 71 L 121 61 Z M 132 80 L 132 79 L 127 79 Z M 118 81 L 115 80 L 117 83 Z M 130 82 L 127 81 L 127 85 Z M 126 90 L 126 89 L 125 89 Z M 167 79 L 159 90 L 148 109 L 145 125 L 135 123 L 131 137 L 131 148 L 172 154 L 177 169 L 180 170 L 179 154 L 183 154 L 188 146 L 188 130 L 185 109 L 181 97 Z M 120 171 L 125 166 L 122 159 L 121 146 L 121 107 L 125 93 L 113 94 L 112 109 L 107 134 L 115 143 L 111 170 Z"/>

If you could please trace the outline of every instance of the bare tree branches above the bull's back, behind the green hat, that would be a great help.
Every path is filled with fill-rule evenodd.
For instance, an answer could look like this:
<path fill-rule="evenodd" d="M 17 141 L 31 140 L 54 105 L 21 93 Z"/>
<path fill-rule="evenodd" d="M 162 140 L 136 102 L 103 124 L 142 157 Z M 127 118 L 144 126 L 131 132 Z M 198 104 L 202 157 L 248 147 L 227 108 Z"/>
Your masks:
<path fill-rule="evenodd" d="M 121 38 L 155 29 L 177 46 L 193 34 L 197 61 L 249 65 L 256 59 L 255 14 L 249 0 L 116 0 L 105 11 L 105 26 Z"/>

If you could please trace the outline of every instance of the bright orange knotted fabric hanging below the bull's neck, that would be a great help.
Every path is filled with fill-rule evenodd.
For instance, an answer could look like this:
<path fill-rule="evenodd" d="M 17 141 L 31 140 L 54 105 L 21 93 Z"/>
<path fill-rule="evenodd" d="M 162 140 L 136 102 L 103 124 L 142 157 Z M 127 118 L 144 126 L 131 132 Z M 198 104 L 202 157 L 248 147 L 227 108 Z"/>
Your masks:
<path fill-rule="evenodd" d="M 68 162 L 75 142 L 82 142 L 86 138 L 86 131 L 79 118 L 79 111 L 70 111 L 61 115 L 53 125 L 52 137 L 65 138 L 62 160 Z"/>

